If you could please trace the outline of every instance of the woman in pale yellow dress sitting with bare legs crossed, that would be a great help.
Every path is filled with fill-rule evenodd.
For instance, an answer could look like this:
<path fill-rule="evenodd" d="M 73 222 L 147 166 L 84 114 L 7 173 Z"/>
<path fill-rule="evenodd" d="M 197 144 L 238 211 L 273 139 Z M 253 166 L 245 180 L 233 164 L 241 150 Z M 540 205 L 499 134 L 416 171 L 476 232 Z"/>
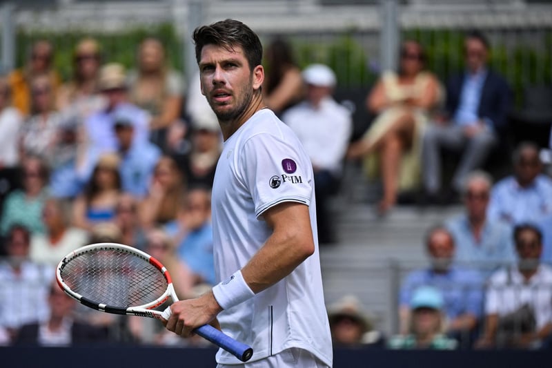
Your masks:
<path fill-rule="evenodd" d="M 424 70 L 425 59 L 420 43 L 402 44 L 399 71 L 384 72 L 366 99 L 377 118 L 348 149 L 349 158 L 366 156 L 368 175 L 374 176 L 376 168 L 380 171 L 384 191 L 380 213 L 397 202 L 398 191 L 412 190 L 420 182 L 420 137 L 431 111 L 443 99 L 437 77 Z"/>

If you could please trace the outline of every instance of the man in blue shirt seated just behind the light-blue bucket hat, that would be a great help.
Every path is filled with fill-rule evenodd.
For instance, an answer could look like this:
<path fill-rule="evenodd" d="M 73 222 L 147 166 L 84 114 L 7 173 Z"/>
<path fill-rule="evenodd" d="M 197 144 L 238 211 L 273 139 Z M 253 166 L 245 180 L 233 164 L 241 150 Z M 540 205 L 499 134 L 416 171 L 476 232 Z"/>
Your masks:
<path fill-rule="evenodd" d="M 482 313 L 483 280 L 480 273 L 453 265 L 455 244 L 453 235 L 444 226 L 435 226 L 426 236 L 431 266 L 412 271 L 400 289 L 400 331 L 408 331 L 411 323 L 411 299 L 415 289 L 432 286 L 442 293 L 442 311 L 447 320 L 444 331 L 471 342 Z"/>

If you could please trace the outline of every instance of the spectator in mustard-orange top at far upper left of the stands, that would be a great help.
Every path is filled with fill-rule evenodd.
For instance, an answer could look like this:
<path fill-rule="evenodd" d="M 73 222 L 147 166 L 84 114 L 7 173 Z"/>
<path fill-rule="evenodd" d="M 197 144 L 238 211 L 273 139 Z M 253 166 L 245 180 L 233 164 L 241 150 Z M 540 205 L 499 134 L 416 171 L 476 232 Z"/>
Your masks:
<path fill-rule="evenodd" d="M 31 112 L 31 81 L 39 75 L 48 77 L 48 85 L 52 88 L 52 93 L 57 93 L 57 88 L 61 84 L 61 78 L 56 70 L 52 68 L 54 59 L 54 49 L 52 43 L 46 40 L 40 40 L 32 45 L 27 64 L 21 69 L 13 70 L 8 76 L 12 88 L 13 106 L 16 107 L 23 116 Z"/>

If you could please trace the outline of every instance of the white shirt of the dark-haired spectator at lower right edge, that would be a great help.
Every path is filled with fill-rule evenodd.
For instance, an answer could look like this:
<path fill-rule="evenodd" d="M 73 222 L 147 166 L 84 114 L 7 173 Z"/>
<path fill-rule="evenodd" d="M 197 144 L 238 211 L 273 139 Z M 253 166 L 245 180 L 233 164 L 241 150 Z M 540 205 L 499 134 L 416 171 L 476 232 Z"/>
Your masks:
<path fill-rule="evenodd" d="M 535 313 L 537 329 L 552 322 L 552 268 L 540 264 L 537 273 L 525 282 L 517 267 L 496 271 L 489 280 L 486 314 L 504 316 L 529 304 Z"/>

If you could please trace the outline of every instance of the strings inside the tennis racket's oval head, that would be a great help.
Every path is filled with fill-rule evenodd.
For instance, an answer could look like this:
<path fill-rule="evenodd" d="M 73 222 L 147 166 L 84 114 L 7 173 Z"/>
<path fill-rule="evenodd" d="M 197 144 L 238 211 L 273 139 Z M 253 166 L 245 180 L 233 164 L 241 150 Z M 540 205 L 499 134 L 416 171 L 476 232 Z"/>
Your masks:
<path fill-rule="evenodd" d="M 167 280 L 159 269 L 119 249 L 78 255 L 63 267 L 61 278 L 75 293 L 112 307 L 148 304 L 167 288 Z"/>

